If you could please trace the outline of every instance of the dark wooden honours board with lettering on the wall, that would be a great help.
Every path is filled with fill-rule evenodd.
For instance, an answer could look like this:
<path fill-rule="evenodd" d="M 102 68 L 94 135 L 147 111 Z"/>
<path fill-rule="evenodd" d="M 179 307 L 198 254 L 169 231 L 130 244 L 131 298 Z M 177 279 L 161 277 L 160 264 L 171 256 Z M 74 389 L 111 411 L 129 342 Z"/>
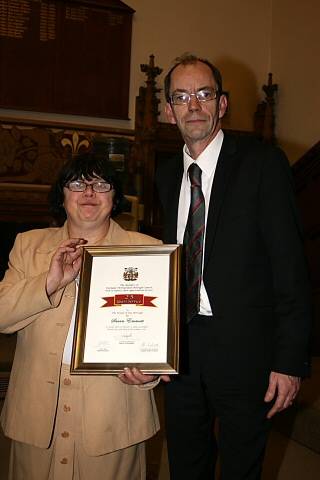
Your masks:
<path fill-rule="evenodd" d="M 128 119 L 133 13 L 119 0 L 0 0 L 0 107 Z"/>

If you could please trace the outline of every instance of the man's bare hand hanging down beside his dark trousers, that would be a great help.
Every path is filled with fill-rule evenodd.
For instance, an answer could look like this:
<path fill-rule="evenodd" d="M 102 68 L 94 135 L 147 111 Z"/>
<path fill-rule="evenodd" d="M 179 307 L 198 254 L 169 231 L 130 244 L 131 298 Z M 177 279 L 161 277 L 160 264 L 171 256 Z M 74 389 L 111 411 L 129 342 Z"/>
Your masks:
<path fill-rule="evenodd" d="M 301 378 L 285 375 L 283 373 L 271 372 L 269 378 L 269 387 L 265 394 L 264 401 L 275 403 L 269 410 L 267 418 L 273 417 L 277 412 L 281 412 L 292 405 L 300 389 Z"/>

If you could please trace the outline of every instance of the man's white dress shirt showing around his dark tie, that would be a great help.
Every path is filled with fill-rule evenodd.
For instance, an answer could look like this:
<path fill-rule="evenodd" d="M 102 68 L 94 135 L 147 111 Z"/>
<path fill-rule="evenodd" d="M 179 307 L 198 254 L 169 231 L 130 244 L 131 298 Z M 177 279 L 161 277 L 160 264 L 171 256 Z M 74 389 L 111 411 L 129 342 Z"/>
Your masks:
<path fill-rule="evenodd" d="M 205 248 L 205 239 L 207 231 L 207 218 L 209 210 L 209 202 L 211 196 L 212 182 L 214 174 L 216 171 L 216 166 L 218 162 L 218 157 L 220 154 L 222 142 L 223 142 L 223 131 L 219 130 L 215 138 L 211 143 L 204 149 L 204 151 L 199 155 L 196 160 L 190 156 L 187 146 L 183 148 L 183 177 L 181 182 L 181 190 L 179 197 L 179 208 L 178 208 L 178 224 L 177 224 L 177 241 L 180 244 L 183 244 L 184 231 L 187 225 L 189 207 L 190 207 L 190 180 L 188 176 L 188 168 L 191 163 L 195 162 L 199 165 L 202 170 L 201 184 L 202 192 L 205 201 L 205 231 L 204 231 L 204 240 L 203 240 L 203 255 L 202 255 L 202 272 L 203 272 L 203 259 L 204 259 L 204 248 Z M 200 286 L 200 312 L 201 315 L 212 315 L 212 310 L 206 289 L 201 280 Z"/>

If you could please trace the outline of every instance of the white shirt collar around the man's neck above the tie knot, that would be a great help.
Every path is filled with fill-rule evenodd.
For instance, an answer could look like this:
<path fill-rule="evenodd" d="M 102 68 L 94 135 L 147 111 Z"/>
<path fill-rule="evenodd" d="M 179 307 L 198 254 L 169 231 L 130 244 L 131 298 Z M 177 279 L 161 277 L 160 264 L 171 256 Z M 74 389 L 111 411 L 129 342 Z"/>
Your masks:
<path fill-rule="evenodd" d="M 196 160 L 196 163 L 201 168 L 208 177 L 212 175 L 213 171 L 216 168 L 218 161 L 219 153 L 221 150 L 223 142 L 224 133 L 222 130 L 219 130 L 214 139 L 209 143 L 209 145 L 200 153 L 199 157 Z M 188 168 L 191 163 L 195 160 L 190 156 L 187 145 L 183 147 L 183 169 L 184 175 L 187 175 Z"/>

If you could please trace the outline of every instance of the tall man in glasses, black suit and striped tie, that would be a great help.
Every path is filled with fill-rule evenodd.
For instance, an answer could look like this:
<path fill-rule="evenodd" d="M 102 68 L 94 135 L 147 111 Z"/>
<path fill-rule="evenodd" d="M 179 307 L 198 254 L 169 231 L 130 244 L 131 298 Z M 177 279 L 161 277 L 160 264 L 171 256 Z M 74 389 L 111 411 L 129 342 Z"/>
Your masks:
<path fill-rule="evenodd" d="M 183 157 L 157 172 L 165 241 L 184 243 L 186 264 L 182 371 L 165 387 L 171 479 L 214 478 L 218 419 L 221 480 L 256 480 L 269 419 L 292 404 L 308 370 L 290 168 L 279 149 L 223 133 L 227 98 L 208 61 L 177 59 L 165 94 L 185 141 Z"/>

